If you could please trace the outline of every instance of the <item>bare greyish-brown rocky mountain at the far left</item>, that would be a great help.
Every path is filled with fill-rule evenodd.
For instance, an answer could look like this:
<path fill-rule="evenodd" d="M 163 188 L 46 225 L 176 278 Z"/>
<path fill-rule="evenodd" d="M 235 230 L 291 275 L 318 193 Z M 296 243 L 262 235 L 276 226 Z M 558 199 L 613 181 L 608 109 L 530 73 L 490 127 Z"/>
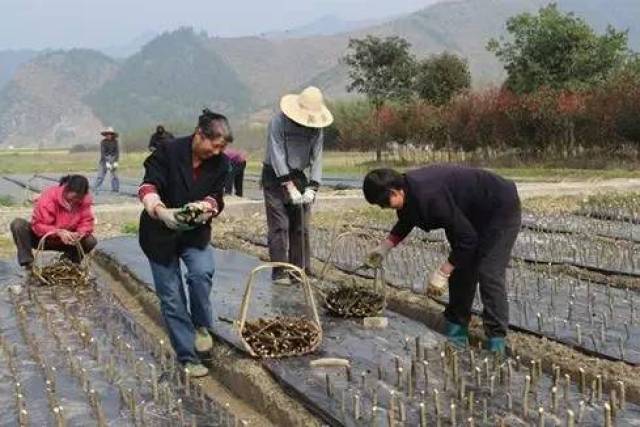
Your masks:
<path fill-rule="evenodd" d="M 116 71 L 111 58 L 86 49 L 48 52 L 22 65 L 0 90 L 0 141 L 17 147 L 95 141 L 102 122 L 83 97 Z"/>

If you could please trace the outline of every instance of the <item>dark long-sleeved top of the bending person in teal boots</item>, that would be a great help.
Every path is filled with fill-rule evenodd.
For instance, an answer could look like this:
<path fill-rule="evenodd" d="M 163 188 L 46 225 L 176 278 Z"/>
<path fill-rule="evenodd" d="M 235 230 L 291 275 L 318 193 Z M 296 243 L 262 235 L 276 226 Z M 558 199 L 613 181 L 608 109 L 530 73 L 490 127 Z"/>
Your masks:
<path fill-rule="evenodd" d="M 515 184 L 496 174 L 460 166 L 427 166 L 405 175 L 405 205 L 391 239 L 404 239 L 414 227 L 425 231 L 444 228 L 451 244 L 449 262 L 455 267 L 472 263 L 491 244 L 501 227 L 520 221 L 520 199 Z"/>

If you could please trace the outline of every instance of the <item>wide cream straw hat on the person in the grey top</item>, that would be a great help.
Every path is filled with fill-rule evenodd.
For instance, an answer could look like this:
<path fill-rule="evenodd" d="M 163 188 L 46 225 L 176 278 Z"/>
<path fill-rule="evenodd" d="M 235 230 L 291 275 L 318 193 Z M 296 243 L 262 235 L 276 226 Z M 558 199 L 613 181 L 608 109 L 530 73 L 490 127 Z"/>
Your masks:
<path fill-rule="evenodd" d="M 322 92 L 309 86 L 300 94 L 285 95 L 280 109 L 294 122 L 310 128 L 323 128 L 333 123 L 333 115 L 324 104 Z"/>

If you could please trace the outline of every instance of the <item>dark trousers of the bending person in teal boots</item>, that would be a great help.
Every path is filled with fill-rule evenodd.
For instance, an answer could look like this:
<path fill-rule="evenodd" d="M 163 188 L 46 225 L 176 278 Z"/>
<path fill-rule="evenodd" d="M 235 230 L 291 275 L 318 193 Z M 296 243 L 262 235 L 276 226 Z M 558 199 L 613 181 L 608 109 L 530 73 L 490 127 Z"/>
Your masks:
<path fill-rule="evenodd" d="M 452 323 L 467 325 L 479 284 L 485 334 L 487 337 L 504 337 L 509 327 L 505 274 L 511 249 L 520 231 L 520 210 L 492 223 L 480 236 L 477 261 L 468 267 L 456 268 L 451 274 L 449 304 L 444 315 Z"/>

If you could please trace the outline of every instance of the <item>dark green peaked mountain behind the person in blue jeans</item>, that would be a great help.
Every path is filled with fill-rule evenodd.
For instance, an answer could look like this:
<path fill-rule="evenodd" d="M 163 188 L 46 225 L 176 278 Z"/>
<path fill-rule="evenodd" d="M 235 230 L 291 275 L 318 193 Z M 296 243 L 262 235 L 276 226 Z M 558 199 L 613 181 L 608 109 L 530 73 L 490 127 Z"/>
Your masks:
<path fill-rule="evenodd" d="M 194 122 L 203 107 L 230 115 L 248 111 L 249 90 L 208 41 L 186 28 L 162 34 L 85 101 L 120 129 Z"/>

